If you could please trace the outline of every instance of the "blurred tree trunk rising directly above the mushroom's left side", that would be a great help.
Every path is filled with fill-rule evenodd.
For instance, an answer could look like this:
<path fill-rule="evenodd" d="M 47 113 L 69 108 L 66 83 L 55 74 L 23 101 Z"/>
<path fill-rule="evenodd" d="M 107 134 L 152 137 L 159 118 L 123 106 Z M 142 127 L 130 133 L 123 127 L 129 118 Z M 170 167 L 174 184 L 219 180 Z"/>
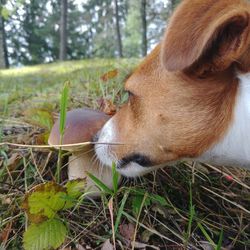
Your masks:
<path fill-rule="evenodd" d="M 61 61 L 64 61 L 67 57 L 67 10 L 68 10 L 68 0 L 61 0 L 60 51 L 59 51 L 59 60 Z"/>

